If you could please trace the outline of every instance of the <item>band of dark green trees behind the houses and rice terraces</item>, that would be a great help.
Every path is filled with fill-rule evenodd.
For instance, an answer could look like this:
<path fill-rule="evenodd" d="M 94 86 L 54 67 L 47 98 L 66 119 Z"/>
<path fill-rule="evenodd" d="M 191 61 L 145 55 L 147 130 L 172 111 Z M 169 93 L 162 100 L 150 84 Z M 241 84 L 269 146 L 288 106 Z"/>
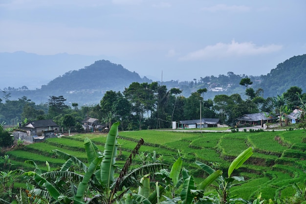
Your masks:
<path fill-rule="evenodd" d="M 25 119 L 53 119 L 62 127 L 80 130 L 81 121 L 88 116 L 98 118 L 109 127 L 120 121 L 121 130 L 141 130 L 170 128 L 172 121 L 201 117 L 219 118 L 222 124 L 234 126 L 236 118 L 243 114 L 286 115 L 302 107 L 306 101 L 306 94 L 299 87 L 290 87 L 281 95 L 264 98 L 264 90 L 254 90 L 250 87 L 252 83 L 247 77 L 240 80 L 240 85 L 246 87 L 242 96 L 238 93 L 219 94 L 204 100 L 205 87 L 185 97 L 179 88 L 168 90 L 157 82 L 133 82 L 122 92 L 106 91 L 99 104 L 83 106 L 78 103 L 67 105 L 62 95 L 49 96 L 48 102 L 42 104 L 35 104 L 26 96 L 10 100 L 9 93 L 2 91 L 0 122 L 14 126 Z"/>

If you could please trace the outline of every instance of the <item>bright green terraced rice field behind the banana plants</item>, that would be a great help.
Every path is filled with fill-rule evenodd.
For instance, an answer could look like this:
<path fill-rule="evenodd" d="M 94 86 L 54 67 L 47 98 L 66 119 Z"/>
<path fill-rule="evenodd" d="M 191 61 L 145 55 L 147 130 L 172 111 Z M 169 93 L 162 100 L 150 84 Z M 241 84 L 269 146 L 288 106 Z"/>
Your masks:
<path fill-rule="evenodd" d="M 43 143 L 26 145 L 23 149 L 9 151 L 15 168 L 33 170 L 25 160 L 34 160 L 43 170 L 45 161 L 51 169 L 60 167 L 65 160 L 56 158 L 53 149 L 64 151 L 83 161 L 86 153 L 83 147 L 85 137 L 90 138 L 98 148 L 104 150 L 105 134 L 80 134 L 50 138 Z M 195 177 L 199 183 L 207 175 L 195 164 L 201 161 L 223 170 L 226 177 L 227 168 L 243 150 L 254 148 L 254 154 L 235 176 L 243 176 L 245 181 L 231 188 L 231 195 L 238 195 L 246 200 L 253 200 L 262 192 L 262 198 L 276 200 L 295 194 L 293 183 L 306 186 L 306 132 L 304 130 L 277 132 L 172 132 L 172 131 L 126 131 L 119 132 L 117 165 L 122 167 L 136 143 L 143 138 L 145 144 L 140 152 L 151 154 L 156 152 L 162 156 L 164 163 L 171 165 L 178 154 L 183 156 L 183 167 Z M 133 165 L 141 161 L 135 158 Z M 169 168 L 170 168 L 169 167 Z"/>

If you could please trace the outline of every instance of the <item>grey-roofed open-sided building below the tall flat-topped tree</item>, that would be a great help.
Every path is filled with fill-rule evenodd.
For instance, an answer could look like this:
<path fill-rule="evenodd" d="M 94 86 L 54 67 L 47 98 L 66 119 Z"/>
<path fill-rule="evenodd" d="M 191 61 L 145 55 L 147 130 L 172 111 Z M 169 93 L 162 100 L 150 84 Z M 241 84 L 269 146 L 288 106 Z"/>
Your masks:
<path fill-rule="evenodd" d="M 266 116 L 267 115 L 267 116 Z M 244 114 L 237 118 L 238 124 L 249 124 L 249 125 L 263 125 L 264 122 L 268 120 L 271 123 L 276 117 L 270 115 L 269 113 L 251 113 Z"/>

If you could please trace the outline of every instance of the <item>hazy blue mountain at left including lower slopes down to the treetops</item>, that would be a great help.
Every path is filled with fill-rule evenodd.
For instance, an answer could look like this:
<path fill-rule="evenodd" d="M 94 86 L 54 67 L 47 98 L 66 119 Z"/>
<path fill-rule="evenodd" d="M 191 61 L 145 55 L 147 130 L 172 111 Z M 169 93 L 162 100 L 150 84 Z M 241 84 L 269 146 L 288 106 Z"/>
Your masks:
<path fill-rule="evenodd" d="M 68 103 L 95 105 L 100 102 L 106 91 L 124 91 L 132 82 L 149 82 L 138 73 L 131 72 L 122 65 L 107 60 L 95 61 L 94 64 L 79 70 L 68 71 L 62 76 L 43 85 L 36 90 L 7 90 L 11 93 L 10 100 L 23 95 L 36 104 L 46 103 L 49 96 L 63 95 Z"/>

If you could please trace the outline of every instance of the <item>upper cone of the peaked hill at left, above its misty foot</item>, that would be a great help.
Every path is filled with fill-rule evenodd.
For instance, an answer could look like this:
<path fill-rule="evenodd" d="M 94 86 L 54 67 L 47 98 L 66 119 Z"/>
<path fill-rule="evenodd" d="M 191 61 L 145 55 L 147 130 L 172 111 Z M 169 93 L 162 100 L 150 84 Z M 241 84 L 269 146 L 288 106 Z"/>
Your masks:
<path fill-rule="evenodd" d="M 66 72 L 63 76 L 53 79 L 42 86 L 42 91 L 123 91 L 124 87 L 128 87 L 132 82 L 143 82 L 143 79 L 138 73 L 131 72 L 121 65 L 99 60 L 90 66 Z"/>

